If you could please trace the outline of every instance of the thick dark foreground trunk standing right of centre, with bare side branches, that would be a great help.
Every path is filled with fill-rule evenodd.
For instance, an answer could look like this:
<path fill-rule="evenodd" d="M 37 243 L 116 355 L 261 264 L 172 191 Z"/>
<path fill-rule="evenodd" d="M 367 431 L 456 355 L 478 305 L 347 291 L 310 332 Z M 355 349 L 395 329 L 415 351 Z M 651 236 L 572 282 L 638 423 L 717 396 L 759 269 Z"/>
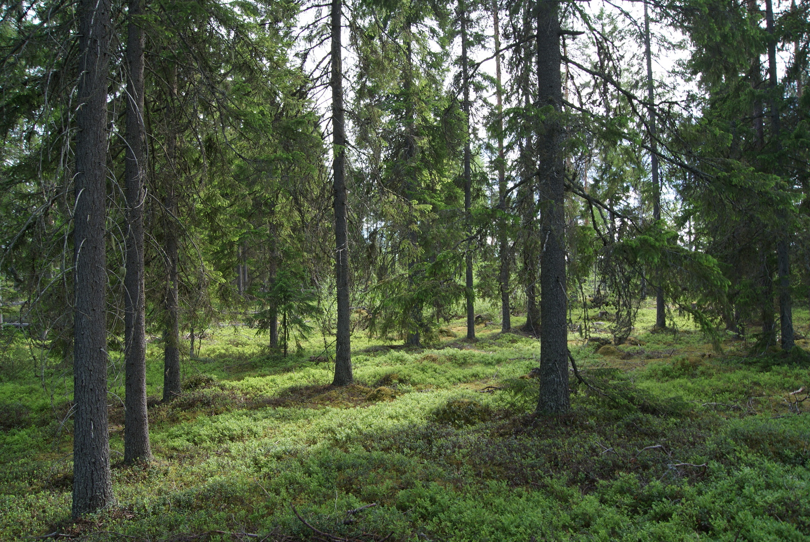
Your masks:
<path fill-rule="evenodd" d="M 568 326 L 565 313 L 565 208 L 561 156 L 562 81 L 560 19 L 554 0 L 537 2 L 537 74 L 540 105 L 552 105 L 538 134 L 540 231 L 540 397 L 538 412 L 560 414 L 570 408 Z"/>

